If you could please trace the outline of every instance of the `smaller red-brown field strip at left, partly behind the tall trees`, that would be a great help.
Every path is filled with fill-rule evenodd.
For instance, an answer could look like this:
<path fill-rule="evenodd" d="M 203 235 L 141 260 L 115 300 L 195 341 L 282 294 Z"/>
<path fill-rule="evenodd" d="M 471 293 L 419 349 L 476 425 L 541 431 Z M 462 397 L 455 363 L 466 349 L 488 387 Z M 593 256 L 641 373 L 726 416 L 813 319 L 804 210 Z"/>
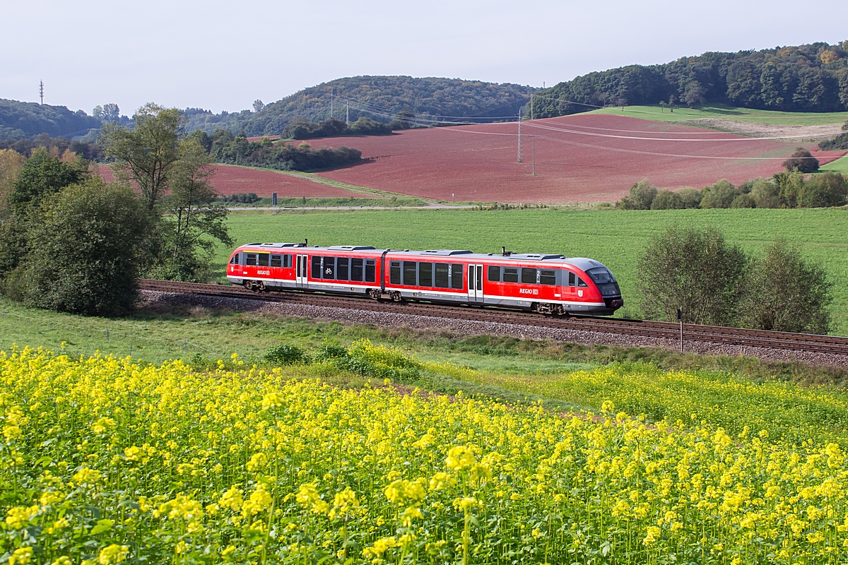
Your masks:
<path fill-rule="evenodd" d="M 99 172 L 105 180 L 112 180 L 112 171 L 109 167 L 101 166 Z M 271 197 L 271 194 L 276 192 L 277 197 L 280 198 L 369 197 L 367 194 L 346 191 L 335 186 L 321 185 L 289 174 L 228 165 L 215 165 L 212 185 L 224 196 L 241 192 L 255 192 L 259 197 Z"/>

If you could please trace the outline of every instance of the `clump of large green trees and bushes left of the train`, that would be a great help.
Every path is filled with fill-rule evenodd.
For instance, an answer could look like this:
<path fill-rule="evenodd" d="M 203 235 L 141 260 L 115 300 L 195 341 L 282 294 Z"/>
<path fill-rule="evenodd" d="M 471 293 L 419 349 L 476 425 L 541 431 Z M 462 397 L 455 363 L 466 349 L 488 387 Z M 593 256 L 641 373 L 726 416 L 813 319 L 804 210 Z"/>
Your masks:
<path fill-rule="evenodd" d="M 103 126 L 109 184 L 73 152 L 0 151 L 0 290 L 31 306 L 113 315 L 137 279 L 207 280 L 231 246 L 213 161 L 176 108 L 147 104 L 135 127 Z"/>

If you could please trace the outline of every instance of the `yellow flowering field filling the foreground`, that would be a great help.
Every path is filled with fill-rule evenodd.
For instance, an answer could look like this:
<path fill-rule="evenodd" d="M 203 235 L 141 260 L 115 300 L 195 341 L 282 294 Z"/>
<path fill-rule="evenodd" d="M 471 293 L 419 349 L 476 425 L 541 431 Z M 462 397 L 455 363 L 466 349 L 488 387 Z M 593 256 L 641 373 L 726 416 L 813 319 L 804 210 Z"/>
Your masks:
<path fill-rule="evenodd" d="M 0 352 L 0 562 L 842 563 L 836 443 Z"/>

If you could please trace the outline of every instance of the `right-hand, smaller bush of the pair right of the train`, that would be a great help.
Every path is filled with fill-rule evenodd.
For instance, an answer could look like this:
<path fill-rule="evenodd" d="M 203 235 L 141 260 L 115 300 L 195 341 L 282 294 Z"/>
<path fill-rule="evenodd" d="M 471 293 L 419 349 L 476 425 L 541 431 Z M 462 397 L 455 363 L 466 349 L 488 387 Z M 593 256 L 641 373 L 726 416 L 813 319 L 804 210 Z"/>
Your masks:
<path fill-rule="evenodd" d="M 820 265 L 778 239 L 751 263 L 742 322 L 761 330 L 827 334 L 832 287 Z"/>

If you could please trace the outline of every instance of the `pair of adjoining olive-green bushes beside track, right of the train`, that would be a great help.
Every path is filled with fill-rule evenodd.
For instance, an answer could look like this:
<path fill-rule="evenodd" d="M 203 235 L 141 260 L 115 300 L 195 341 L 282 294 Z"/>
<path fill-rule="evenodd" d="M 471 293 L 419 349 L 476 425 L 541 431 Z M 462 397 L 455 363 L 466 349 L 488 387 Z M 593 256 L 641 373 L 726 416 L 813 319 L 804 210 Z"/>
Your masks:
<path fill-rule="evenodd" d="M 745 253 L 715 228 L 675 225 L 639 258 L 639 302 L 649 319 L 827 334 L 833 302 L 824 269 L 778 238 Z"/>

